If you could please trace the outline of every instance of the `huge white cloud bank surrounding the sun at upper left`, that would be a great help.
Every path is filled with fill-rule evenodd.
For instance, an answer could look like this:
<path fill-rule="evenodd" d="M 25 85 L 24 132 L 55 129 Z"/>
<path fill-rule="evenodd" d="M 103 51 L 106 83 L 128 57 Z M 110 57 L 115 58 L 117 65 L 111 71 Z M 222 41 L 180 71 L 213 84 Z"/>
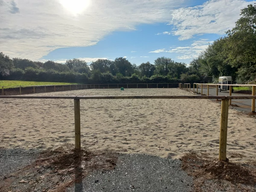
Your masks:
<path fill-rule="evenodd" d="M 64 8 L 59 0 L 11 0 L 13 3 L 0 0 L 1 51 L 10 57 L 38 60 L 61 47 L 95 45 L 117 30 L 135 30 L 142 23 L 168 22 L 172 18 L 170 10 L 183 3 L 180 0 L 89 1 L 90 5 L 81 14 L 74 14 L 81 11 L 78 4 L 69 12 L 68 6 Z"/>

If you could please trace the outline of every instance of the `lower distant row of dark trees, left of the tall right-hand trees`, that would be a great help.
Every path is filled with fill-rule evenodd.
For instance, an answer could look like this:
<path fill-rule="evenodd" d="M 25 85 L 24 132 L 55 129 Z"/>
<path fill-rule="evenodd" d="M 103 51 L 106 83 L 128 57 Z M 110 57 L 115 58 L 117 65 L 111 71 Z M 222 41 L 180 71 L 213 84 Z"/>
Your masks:
<path fill-rule="evenodd" d="M 9 58 L 0 53 L 0 79 L 25 81 L 77 82 L 84 84 L 105 83 L 175 83 L 189 71 L 185 63 L 160 57 L 139 66 L 119 57 L 114 61 L 98 59 L 90 65 L 81 59 L 70 59 L 64 64 L 54 61 L 31 61 Z M 199 76 L 189 76 L 198 81 Z"/>

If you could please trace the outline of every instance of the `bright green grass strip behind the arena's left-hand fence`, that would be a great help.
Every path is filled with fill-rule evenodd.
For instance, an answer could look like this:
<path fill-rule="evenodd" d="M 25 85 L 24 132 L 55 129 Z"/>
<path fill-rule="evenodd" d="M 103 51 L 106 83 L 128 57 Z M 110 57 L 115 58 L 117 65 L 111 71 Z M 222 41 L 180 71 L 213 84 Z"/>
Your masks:
<path fill-rule="evenodd" d="M 20 87 L 20 86 L 37 86 L 37 85 L 65 85 L 77 83 L 60 83 L 60 82 L 38 82 L 38 81 L 0 81 L 0 88 Z"/>

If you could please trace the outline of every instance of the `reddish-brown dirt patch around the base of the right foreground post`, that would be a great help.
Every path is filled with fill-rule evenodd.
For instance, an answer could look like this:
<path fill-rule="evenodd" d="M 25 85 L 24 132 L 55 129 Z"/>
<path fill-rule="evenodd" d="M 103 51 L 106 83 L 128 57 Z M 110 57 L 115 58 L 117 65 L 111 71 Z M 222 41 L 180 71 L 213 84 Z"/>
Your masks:
<path fill-rule="evenodd" d="M 254 191 L 256 162 L 231 163 L 210 158 L 194 151 L 181 159 L 182 169 L 194 177 L 195 192 L 202 191 Z"/>

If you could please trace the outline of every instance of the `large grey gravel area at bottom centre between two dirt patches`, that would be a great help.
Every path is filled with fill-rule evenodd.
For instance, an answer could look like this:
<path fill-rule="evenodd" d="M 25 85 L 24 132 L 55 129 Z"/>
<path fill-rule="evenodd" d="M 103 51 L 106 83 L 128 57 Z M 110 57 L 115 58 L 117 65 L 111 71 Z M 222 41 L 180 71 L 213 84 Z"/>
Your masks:
<path fill-rule="evenodd" d="M 180 160 L 145 154 L 120 154 L 114 170 L 84 177 L 67 192 L 187 192 L 192 177 L 180 168 Z"/>

